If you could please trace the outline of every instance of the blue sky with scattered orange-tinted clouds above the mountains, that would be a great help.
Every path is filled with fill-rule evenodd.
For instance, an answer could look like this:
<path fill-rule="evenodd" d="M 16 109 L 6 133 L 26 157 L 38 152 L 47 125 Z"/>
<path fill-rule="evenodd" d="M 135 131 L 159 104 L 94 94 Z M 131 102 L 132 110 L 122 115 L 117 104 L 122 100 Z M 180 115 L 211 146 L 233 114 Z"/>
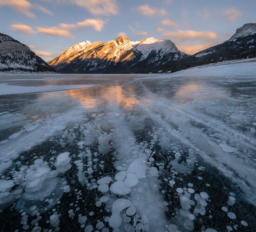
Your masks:
<path fill-rule="evenodd" d="M 72 45 L 170 39 L 194 54 L 256 23 L 256 0 L 0 0 L 0 32 L 48 61 Z"/>

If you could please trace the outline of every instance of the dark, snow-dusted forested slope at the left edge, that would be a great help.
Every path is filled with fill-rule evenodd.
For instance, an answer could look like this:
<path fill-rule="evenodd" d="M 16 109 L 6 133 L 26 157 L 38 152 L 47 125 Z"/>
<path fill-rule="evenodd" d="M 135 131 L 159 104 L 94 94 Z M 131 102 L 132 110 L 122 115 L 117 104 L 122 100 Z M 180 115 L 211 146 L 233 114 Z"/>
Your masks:
<path fill-rule="evenodd" d="M 0 33 L 0 71 L 55 71 L 26 45 Z"/>

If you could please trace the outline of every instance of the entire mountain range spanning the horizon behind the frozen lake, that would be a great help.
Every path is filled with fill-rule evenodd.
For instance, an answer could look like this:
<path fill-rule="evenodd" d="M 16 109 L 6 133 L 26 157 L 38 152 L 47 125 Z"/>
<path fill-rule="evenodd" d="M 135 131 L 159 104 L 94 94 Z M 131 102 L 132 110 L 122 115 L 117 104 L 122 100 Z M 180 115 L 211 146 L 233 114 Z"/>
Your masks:
<path fill-rule="evenodd" d="M 171 40 L 153 37 L 131 41 L 121 36 L 106 43 L 78 43 L 45 63 L 26 45 L 0 34 L 0 71 L 61 73 L 173 72 L 223 60 L 256 57 L 256 23 L 236 30 L 230 39 L 194 55 L 177 49 Z"/>

